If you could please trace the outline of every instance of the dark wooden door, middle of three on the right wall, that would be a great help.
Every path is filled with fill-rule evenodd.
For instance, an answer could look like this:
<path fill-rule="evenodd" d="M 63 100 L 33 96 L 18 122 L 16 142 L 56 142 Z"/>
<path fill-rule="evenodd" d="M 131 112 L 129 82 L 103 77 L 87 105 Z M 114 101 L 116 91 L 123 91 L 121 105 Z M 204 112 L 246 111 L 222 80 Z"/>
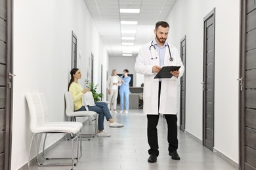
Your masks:
<path fill-rule="evenodd" d="M 204 18 L 203 35 L 203 145 L 214 146 L 215 9 Z"/>

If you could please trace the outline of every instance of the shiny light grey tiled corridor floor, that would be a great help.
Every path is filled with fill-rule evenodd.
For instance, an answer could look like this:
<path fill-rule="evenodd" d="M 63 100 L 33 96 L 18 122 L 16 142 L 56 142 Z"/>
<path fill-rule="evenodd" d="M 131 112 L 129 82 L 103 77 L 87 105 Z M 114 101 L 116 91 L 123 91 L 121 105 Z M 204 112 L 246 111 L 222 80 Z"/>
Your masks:
<path fill-rule="evenodd" d="M 125 124 L 123 128 L 110 128 L 105 121 L 105 131 L 111 137 L 95 137 L 83 141 L 83 156 L 75 169 L 87 170 L 235 170 L 226 161 L 213 154 L 211 150 L 179 131 L 180 161 L 171 160 L 168 155 L 167 126 L 160 116 L 158 140 L 160 155 L 156 163 L 148 163 L 148 143 L 146 138 L 146 116 L 142 110 L 129 110 L 129 114 L 113 114 L 117 122 Z M 68 152 L 70 141 L 64 141 L 52 152 L 56 155 Z M 30 169 L 71 169 L 71 167 L 37 167 L 33 163 Z"/>

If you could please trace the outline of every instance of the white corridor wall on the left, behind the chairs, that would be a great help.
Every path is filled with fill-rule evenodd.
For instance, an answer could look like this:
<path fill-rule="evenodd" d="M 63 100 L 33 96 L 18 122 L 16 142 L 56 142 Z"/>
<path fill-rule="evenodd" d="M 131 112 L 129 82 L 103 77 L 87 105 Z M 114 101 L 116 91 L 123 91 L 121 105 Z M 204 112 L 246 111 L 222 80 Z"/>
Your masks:
<path fill-rule="evenodd" d="M 83 0 L 14 0 L 14 88 L 12 122 L 12 165 L 18 169 L 28 161 L 32 133 L 25 94 L 43 92 L 49 101 L 51 120 L 62 121 L 64 92 L 67 91 L 71 69 L 72 31 L 77 35 L 78 63 L 87 75 L 91 52 L 95 58 L 95 82 L 100 83 L 108 70 L 108 54 Z M 100 49 L 100 50 L 98 50 Z M 104 82 L 103 86 L 106 86 Z M 103 88 L 103 90 L 105 90 Z M 106 93 L 106 92 L 104 92 Z M 60 139 L 50 135 L 47 146 Z M 32 157 L 35 156 L 35 142 Z"/>

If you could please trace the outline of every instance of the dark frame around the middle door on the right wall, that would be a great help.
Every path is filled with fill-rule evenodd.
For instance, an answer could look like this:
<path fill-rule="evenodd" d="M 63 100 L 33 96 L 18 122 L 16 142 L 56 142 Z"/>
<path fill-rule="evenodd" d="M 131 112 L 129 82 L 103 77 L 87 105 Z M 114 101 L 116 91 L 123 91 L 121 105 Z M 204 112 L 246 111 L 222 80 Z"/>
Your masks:
<path fill-rule="evenodd" d="M 205 87 L 205 66 L 206 66 L 206 63 L 205 63 L 205 56 L 206 56 L 206 50 L 207 50 L 207 47 L 206 47 L 206 43 L 205 43 L 205 37 L 206 37 L 206 31 L 205 31 L 205 21 L 208 20 L 208 18 L 210 18 L 211 16 L 213 15 L 213 33 L 214 33 L 214 50 L 213 50 L 213 57 L 215 58 L 215 8 L 213 10 L 211 10 L 211 12 L 209 12 L 204 18 L 203 18 L 203 88 Z M 214 118 L 215 118 L 215 115 L 214 115 L 214 104 L 215 104 L 215 96 L 214 96 L 214 93 L 215 93 L 215 75 L 214 75 L 214 72 L 215 72 L 215 60 L 213 59 L 213 122 L 212 122 L 212 125 L 213 125 L 213 141 L 212 141 L 212 148 L 209 148 L 213 151 L 213 148 L 214 148 L 214 138 L 215 138 L 215 135 L 214 135 Z M 206 91 L 203 90 L 203 146 L 205 146 L 205 139 L 206 139 L 206 136 L 205 136 L 205 127 L 206 127 L 206 121 L 205 121 L 205 100 L 206 100 Z M 208 147 L 207 147 L 208 148 Z"/>

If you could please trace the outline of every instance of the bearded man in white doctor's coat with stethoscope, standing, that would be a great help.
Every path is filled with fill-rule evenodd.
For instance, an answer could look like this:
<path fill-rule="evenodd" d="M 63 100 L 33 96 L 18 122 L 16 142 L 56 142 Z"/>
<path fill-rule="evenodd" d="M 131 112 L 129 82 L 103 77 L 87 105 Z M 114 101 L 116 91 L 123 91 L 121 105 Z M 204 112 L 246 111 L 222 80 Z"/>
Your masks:
<path fill-rule="evenodd" d="M 148 162 L 157 161 L 159 155 L 158 125 L 159 114 L 164 114 L 168 125 L 167 141 L 169 156 L 180 160 L 177 139 L 177 83 L 184 73 L 184 66 L 177 48 L 168 44 L 167 22 L 158 22 L 154 29 L 155 39 L 140 49 L 135 63 L 135 71 L 144 75 L 143 112 L 148 119 Z M 171 71 L 171 78 L 154 78 L 163 66 L 181 66 L 179 71 Z"/>

